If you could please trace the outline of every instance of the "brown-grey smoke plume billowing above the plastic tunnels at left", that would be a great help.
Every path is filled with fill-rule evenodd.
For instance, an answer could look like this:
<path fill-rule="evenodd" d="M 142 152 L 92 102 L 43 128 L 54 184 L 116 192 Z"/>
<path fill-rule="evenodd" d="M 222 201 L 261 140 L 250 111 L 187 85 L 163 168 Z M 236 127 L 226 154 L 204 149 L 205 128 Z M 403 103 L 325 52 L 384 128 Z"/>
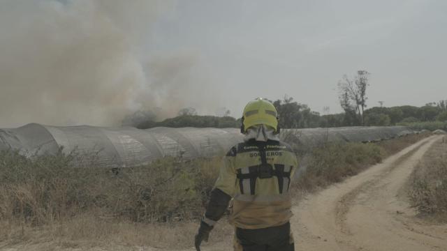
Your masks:
<path fill-rule="evenodd" d="M 191 106 L 198 56 L 145 55 L 173 1 L 2 1 L 0 127 L 116 126 L 126 114 Z M 199 86 L 200 87 L 200 86 Z M 157 111 L 154 111 L 157 112 Z"/>

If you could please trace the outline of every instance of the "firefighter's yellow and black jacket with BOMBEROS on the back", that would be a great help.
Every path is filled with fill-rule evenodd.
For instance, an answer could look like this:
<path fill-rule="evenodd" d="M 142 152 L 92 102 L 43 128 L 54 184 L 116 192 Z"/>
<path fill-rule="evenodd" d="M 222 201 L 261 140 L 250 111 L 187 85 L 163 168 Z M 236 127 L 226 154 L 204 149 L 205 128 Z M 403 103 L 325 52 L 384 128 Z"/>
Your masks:
<path fill-rule="evenodd" d="M 237 144 L 223 158 L 203 222 L 213 226 L 233 198 L 230 223 L 241 229 L 286 224 L 291 216 L 288 193 L 298 160 L 279 141 L 254 139 Z"/>

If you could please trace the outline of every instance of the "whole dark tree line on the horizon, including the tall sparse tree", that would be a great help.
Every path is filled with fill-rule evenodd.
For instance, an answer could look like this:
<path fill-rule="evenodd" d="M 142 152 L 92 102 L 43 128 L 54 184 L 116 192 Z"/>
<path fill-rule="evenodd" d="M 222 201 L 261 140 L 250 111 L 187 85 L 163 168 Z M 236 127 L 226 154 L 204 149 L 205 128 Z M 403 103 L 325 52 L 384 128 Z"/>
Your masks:
<path fill-rule="evenodd" d="M 339 103 L 343 111 L 339 114 L 314 112 L 305 104 L 285 96 L 282 100 L 271 100 L 279 115 L 281 128 L 330 128 L 342 126 L 395 126 L 399 123 L 427 121 L 447 122 L 447 100 L 430 102 L 422 107 L 403 105 L 396 107 L 372 107 L 367 109 L 367 87 L 370 73 L 358 70 L 354 77 L 344 75 L 338 82 Z M 383 105 L 383 102 L 381 102 Z M 328 112 L 328 107 L 325 107 Z M 230 116 L 228 110 L 223 116 L 200 116 L 196 110 L 187 107 L 177 116 L 156 121 L 152 112 L 135 112 L 122 121 L 123 126 L 140 129 L 166 126 L 172 128 L 240 128 L 241 119 Z"/>

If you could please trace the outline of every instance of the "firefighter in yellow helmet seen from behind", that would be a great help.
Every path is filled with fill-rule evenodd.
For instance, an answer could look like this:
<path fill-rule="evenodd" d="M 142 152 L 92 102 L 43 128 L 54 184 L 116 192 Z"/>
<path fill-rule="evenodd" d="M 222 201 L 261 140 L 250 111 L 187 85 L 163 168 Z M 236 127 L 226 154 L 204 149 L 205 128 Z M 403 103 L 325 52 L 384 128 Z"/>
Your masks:
<path fill-rule="evenodd" d="M 196 249 L 200 251 L 200 244 L 208 240 L 233 199 L 230 224 L 235 226 L 234 250 L 295 250 L 288 190 L 298 160 L 291 147 L 279 140 L 274 105 L 261 98 L 249 102 L 241 132 L 244 142 L 233 146 L 223 158 L 195 238 Z"/>

